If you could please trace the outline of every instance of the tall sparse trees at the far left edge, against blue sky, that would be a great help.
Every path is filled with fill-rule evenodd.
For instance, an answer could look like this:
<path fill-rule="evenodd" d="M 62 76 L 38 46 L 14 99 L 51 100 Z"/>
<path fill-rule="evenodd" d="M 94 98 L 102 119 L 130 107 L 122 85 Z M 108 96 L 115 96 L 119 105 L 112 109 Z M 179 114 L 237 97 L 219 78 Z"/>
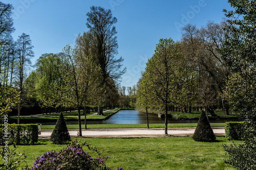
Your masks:
<path fill-rule="evenodd" d="M 17 104 L 19 116 L 26 101 L 25 81 L 34 53 L 29 35 L 23 33 L 13 40 L 12 10 L 12 5 L 0 2 L 0 104 L 1 114 Z"/>

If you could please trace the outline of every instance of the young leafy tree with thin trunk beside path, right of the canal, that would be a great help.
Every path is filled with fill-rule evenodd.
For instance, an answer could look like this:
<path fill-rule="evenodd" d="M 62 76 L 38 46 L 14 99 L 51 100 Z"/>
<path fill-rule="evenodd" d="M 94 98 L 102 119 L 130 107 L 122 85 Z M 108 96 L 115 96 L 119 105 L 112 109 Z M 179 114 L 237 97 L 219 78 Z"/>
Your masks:
<path fill-rule="evenodd" d="M 152 98 L 151 102 L 154 101 L 151 105 L 164 108 L 166 135 L 168 107 L 182 102 L 182 89 L 190 82 L 191 74 L 179 45 L 170 38 L 160 39 L 155 54 L 146 63 L 141 83 L 150 89 L 148 95 Z"/>

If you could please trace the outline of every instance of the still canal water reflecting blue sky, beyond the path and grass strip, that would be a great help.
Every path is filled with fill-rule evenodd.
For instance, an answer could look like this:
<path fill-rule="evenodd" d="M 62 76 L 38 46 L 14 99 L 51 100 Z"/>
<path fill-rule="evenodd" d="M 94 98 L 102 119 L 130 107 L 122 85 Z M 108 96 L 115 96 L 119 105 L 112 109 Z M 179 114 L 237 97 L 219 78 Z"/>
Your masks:
<path fill-rule="evenodd" d="M 210 123 L 224 123 L 229 120 L 210 120 Z M 164 124 L 164 117 L 158 117 L 156 114 L 148 114 L 148 122 L 150 124 Z M 197 123 L 198 120 L 177 120 L 168 118 L 168 124 L 178 123 Z M 46 125 L 46 123 L 42 123 Z M 78 122 L 66 122 L 67 125 L 76 125 Z M 84 122 L 82 122 L 84 124 Z M 88 121 L 87 124 L 146 124 L 146 114 L 138 110 L 120 110 L 107 120 Z M 47 123 L 47 125 L 55 125 L 55 123 Z"/>

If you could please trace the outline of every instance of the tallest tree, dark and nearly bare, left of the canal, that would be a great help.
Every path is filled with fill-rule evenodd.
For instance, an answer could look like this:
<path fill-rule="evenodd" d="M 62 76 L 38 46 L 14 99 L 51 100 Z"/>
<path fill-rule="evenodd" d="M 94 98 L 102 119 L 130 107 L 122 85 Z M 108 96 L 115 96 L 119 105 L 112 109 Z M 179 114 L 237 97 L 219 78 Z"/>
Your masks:
<path fill-rule="evenodd" d="M 78 46 L 82 46 L 87 55 L 91 53 L 93 60 L 100 65 L 102 86 L 108 86 L 108 79 L 118 81 L 126 71 L 126 68 L 122 68 L 122 57 L 116 58 L 118 43 L 114 25 L 117 19 L 112 16 L 111 10 L 95 6 L 91 7 L 87 16 L 89 32 L 78 37 Z M 101 107 L 98 114 L 103 114 Z"/>

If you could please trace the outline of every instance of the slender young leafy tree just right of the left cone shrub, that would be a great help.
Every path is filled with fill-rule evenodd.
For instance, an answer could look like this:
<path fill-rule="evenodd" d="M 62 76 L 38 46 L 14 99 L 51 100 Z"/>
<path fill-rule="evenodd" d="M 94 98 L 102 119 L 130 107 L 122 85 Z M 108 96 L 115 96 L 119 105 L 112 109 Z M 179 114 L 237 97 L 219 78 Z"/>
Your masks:
<path fill-rule="evenodd" d="M 82 55 L 79 48 L 72 49 L 69 45 L 63 48 L 66 56 L 66 83 L 70 102 L 78 109 L 79 136 L 81 130 L 81 107 L 102 104 L 104 88 L 101 85 L 102 72 L 90 56 Z M 99 86 L 101 85 L 101 86 Z"/>

